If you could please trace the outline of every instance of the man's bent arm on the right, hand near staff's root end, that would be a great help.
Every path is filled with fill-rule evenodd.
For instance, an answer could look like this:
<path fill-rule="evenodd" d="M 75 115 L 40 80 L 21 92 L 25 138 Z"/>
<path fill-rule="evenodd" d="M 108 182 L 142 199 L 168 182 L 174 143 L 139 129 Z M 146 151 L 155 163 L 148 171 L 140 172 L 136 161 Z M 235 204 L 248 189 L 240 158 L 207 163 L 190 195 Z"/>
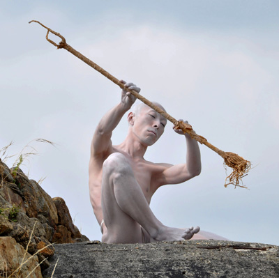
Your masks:
<path fill-rule="evenodd" d="M 185 121 L 185 123 L 188 122 Z M 183 183 L 186 180 L 190 180 L 190 178 L 198 176 L 202 170 L 201 155 L 197 141 L 192 139 L 189 134 L 184 134 L 182 130 L 174 129 L 174 131 L 186 138 L 186 163 L 177 165 L 162 164 L 165 169 L 161 173 L 160 185 Z"/>

